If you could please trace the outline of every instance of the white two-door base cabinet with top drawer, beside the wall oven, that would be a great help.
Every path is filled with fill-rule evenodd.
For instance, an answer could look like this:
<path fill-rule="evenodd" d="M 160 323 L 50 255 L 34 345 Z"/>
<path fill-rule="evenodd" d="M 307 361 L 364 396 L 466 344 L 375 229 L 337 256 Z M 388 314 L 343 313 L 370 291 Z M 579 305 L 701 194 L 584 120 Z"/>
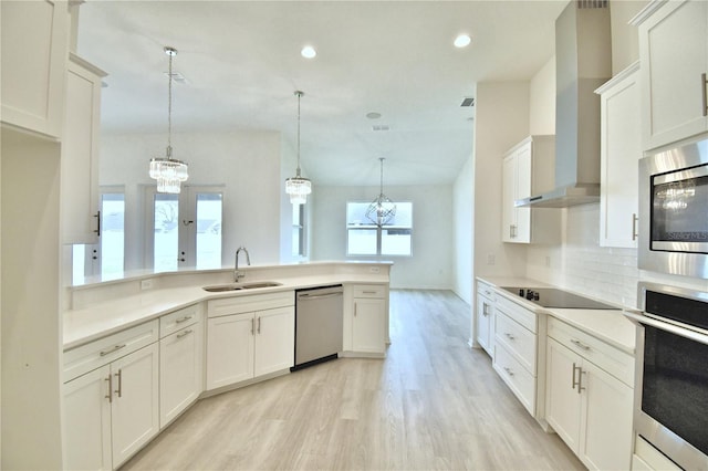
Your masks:
<path fill-rule="evenodd" d="M 589 469 L 629 469 L 629 355 L 552 318 L 546 362 L 548 423 Z"/>

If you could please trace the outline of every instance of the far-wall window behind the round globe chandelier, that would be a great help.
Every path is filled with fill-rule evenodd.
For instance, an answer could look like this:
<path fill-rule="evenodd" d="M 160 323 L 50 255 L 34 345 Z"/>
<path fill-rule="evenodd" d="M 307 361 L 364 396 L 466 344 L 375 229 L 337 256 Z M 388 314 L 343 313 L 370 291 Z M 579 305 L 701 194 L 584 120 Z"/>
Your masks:
<path fill-rule="evenodd" d="M 396 202 L 396 216 L 377 227 L 366 219 L 369 202 L 346 203 L 347 255 L 404 255 L 413 254 L 413 203 Z"/>

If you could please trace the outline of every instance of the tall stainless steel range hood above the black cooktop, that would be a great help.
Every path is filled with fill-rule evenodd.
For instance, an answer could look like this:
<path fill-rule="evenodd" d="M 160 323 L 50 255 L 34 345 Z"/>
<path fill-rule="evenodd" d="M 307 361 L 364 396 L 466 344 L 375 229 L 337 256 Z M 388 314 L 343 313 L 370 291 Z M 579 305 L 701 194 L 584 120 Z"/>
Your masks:
<path fill-rule="evenodd" d="M 600 96 L 612 76 L 606 0 L 572 0 L 555 20 L 555 189 L 516 206 L 566 208 L 600 201 Z"/>

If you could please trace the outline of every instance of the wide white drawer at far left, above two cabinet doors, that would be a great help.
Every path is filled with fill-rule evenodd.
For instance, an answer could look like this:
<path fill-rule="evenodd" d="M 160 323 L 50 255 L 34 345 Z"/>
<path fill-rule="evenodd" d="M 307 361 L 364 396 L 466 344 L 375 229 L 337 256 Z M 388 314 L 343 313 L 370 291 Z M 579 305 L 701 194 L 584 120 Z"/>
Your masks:
<path fill-rule="evenodd" d="M 66 383 L 84 373 L 107 365 L 114 359 L 157 342 L 157 338 L 158 321 L 155 320 L 66 350 L 63 355 L 63 381 Z"/>

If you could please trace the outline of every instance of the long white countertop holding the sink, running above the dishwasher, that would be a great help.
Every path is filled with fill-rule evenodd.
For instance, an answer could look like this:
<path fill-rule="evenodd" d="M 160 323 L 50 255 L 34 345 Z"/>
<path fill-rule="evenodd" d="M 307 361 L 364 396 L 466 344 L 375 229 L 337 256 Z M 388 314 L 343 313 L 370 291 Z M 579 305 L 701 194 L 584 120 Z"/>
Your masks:
<path fill-rule="evenodd" d="M 248 282 L 257 281 L 259 280 L 249 280 Z M 382 280 L 378 276 L 371 276 L 362 273 L 326 273 L 291 278 L 269 278 L 268 281 L 277 281 L 282 283 L 282 285 L 219 293 L 210 293 L 201 289 L 204 285 L 215 283 L 145 290 L 139 294 L 98 302 L 79 310 L 65 311 L 63 313 L 64 350 L 206 300 L 274 293 L 279 291 L 300 290 L 329 284 L 387 284 L 388 278 L 386 276 L 385 280 Z"/>

